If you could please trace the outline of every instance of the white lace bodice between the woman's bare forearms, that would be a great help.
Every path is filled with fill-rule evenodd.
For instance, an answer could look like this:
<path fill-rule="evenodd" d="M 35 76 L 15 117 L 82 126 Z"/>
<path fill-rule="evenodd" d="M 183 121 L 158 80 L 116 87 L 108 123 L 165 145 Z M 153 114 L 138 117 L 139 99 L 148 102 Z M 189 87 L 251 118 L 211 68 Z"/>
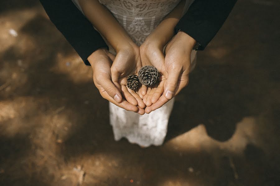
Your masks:
<path fill-rule="evenodd" d="M 82 11 L 78 0 L 72 0 Z M 140 46 L 180 0 L 99 0 Z M 185 10 L 193 0 L 186 0 Z M 182 12 L 183 13 L 183 12 Z"/>

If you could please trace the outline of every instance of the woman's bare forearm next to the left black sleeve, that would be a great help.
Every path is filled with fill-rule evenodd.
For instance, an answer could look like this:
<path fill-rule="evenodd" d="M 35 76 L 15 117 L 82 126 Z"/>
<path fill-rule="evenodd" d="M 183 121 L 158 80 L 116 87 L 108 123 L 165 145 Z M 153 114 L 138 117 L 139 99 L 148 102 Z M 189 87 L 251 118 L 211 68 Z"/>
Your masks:
<path fill-rule="evenodd" d="M 88 20 L 116 51 L 129 44 L 134 44 L 111 12 L 100 4 L 98 0 L 79 0 L 79 3 Z"/>

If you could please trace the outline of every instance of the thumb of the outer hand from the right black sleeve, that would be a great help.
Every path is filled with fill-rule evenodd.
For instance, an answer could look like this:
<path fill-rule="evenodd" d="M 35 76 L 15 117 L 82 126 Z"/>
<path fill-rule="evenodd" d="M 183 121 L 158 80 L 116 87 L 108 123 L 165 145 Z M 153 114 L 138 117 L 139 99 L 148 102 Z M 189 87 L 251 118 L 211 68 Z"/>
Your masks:
<path fill-rule="evenodd" d="M 171 72 L 168 74 L 166 84 L 164 87 L 164 96 L 166 99 L 171 100 L 174 96 L 174 91 L 178 83 L 180 72 Z"/>

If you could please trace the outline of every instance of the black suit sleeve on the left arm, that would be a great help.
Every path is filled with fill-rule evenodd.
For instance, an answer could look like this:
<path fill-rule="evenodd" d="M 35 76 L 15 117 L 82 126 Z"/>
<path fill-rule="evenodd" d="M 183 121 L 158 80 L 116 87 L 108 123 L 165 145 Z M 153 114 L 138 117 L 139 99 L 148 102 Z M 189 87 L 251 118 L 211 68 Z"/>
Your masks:
<path fill-rule="evenodd" d="M 49 19 L 77 51 L 86 65 L 87 57 L 99 48 L 106 47 L 101 35 L 93 28 L 71 0 L 40 0 Z"/>

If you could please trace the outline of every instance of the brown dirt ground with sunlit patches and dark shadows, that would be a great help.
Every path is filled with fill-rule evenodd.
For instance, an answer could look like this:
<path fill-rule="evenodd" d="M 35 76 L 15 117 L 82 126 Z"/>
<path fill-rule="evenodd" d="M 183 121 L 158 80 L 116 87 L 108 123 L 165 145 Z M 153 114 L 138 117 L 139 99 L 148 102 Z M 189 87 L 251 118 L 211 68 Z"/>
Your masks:
<path fill-rule="evenodd" d="M 91 68 L 35 0 L 0 2 L 0 185 L 280 185 L 278 0 L 240 0 L 166 140 L 116 142 Z"/>

